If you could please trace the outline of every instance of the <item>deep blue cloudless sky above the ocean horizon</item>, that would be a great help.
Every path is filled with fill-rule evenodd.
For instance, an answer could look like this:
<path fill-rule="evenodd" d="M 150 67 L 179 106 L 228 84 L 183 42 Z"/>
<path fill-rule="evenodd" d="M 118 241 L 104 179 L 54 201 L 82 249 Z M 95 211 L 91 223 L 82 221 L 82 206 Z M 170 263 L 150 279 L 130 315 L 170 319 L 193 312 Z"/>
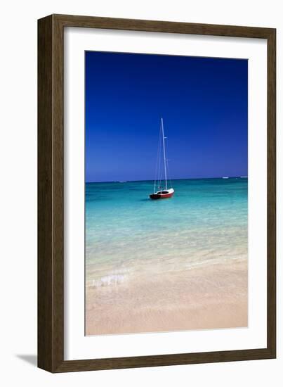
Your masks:
<path fill-rule="evenodd" d="M 247 175 L 246 60 L 86 51 L 86 182 Z"/>

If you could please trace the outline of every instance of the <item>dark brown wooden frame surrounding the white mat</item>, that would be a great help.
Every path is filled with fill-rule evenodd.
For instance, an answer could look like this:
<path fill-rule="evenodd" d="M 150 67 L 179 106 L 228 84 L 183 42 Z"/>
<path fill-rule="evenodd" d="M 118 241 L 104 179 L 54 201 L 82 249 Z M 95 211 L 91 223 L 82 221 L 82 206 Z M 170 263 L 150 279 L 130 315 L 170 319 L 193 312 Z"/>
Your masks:
<path fill-rule="evenodd" d="M 65 361 L 63 202 L 64 27 L 250 37 L 268 41 L 268 343 L 267 348 Z M 260 27 L 49 15 L 38 21 L 38 367 L 89 371 L 276 357 L 276 30 Z"/>

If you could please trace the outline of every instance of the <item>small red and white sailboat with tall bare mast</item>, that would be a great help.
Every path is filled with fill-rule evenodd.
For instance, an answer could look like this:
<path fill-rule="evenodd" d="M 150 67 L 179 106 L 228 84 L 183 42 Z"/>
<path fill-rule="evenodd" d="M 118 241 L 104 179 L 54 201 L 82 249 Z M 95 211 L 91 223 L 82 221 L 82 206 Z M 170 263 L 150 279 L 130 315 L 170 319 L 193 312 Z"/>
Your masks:
<path fill-rule="evenodd" d="M 165 139 L 166 137 L 164 137 L 164 126 L 163 126 L 163 118 L 162 118 L 161 124 L 160 124 L 159 142 L 158 142 L 158 149 L 157 149 L 156 175 L 154 180 L 153 194 L 150 194 L 151 199 L 171 198 L 174 194 L 171 181 L 170 181 L 171 188 L 168 188 L 168 183 L 167 183 L 168 160 L 166 160 Z M 164 178 L 163 178 L 163 172 L 164 172 Z"/>

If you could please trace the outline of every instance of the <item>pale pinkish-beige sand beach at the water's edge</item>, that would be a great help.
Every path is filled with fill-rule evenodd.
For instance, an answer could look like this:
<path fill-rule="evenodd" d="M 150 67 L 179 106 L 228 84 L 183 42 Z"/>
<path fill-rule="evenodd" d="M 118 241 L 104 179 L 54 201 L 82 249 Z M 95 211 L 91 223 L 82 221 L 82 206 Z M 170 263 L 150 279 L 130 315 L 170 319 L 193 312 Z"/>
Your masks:
<path fill-rule="evenodd" d="M 244 327 L 247 286 L 246 260 L 87 286 L 86 335 Z"/>

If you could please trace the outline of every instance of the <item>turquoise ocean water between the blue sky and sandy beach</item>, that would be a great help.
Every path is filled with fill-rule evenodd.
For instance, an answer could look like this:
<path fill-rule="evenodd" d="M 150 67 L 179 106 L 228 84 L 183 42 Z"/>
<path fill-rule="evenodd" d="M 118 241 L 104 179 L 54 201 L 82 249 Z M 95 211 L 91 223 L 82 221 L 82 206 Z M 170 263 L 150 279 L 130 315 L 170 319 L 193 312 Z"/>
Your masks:
<path fill-rule="evenodd" d="M 86 183 L 86 286 L 247 259 L 247 178 Z"/>

